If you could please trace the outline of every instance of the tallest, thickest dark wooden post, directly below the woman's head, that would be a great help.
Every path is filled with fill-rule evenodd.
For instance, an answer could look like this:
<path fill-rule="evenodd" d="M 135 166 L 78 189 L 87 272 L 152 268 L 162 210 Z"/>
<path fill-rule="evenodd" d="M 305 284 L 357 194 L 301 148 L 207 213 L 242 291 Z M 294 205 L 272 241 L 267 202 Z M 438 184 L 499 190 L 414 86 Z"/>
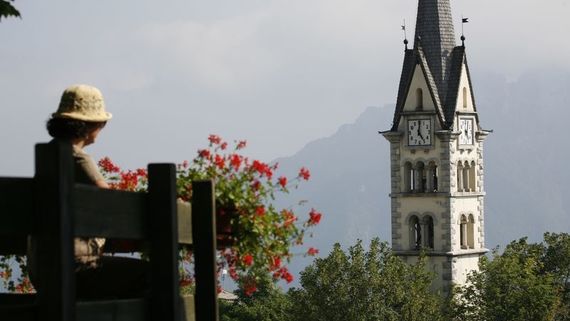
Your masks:
<path fill-rule="evenodd" d="M 41 280 L 39 320 L 75 320 L 74 233 L 70 210 L 73 168 L 70 144 L 54 141 L 36 145 L 33 201 Z"/>

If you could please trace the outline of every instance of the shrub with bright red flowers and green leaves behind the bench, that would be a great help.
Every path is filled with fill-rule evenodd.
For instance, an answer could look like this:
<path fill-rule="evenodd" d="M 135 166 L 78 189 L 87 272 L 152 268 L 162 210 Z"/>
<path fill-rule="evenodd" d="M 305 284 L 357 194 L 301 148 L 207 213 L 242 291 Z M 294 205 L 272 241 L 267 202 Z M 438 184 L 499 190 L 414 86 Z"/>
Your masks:
<path fill-rule="evenodd" d="M 229 238 L 233 242 L 220 250 L 219 271 L 227 269 L 232 279 L 241 282 L 247 294 L 256 291 L 260 273 L 270 273 L 275 280 L 293 281 L 284 263 L 292 257 L 291 247 L 303 244 L 307 230 L 319 224 L 322 214 L 311 209 L 307 219 L 299 220 L 292 209 L 276 208 L 273 202 L 276 194 L 289 193 L 308 180 L 309 170 L 303 167 L 296 177 L 275 178 L 277 164 L 250 160 L 240 154 L 246 147 L 245 141 L 237 141 L 230 148 L 217 135 L 210 135 L 208 140 L 208 148 L 199 150 L 191 163 L 185 161 L 177 165 L 177 192 L 179 199 L 190 202 L 192 181 L 212 179 L 218 217 L 225 212 L 234 213 L 229 220 L 233 231 Z M 101 159 L 99 166 L 112 188 L 146 189 L 144 169 L 123 171 L 109 158 Z M 317 253 L 318 250 L 311 247 L 305 255 Z M 191 260 L 187 252 L 181 256 L 186 263 Z M 181 285 L 191 284 L 192 276 L 182 273 Z"/>

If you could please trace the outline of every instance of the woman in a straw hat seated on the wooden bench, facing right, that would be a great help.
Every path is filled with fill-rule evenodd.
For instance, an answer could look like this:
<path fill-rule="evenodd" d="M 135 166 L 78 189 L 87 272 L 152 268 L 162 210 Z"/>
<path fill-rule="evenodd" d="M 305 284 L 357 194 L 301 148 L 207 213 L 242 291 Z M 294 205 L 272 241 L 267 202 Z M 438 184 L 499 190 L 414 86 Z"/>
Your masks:
<path fill-rule="evenodd" d="M 111 118 L 99 89 L 73 85 L 65 89 L 57 111 L 47 121 L 47 130 L 53 141 L 72 145 L 76 183 L 109 188 L 96 163 L 83 149 L 95 143 Z M 104 238 L 75 238 L 77 297 L 126 298 L 142 295 L 149 283 L 147 262 L 103 255 L 105 243 Z M 28 246 L 30 280 L 36 289 L 40 289 L 36 253 L 37 240 L 32 237 Z"/>

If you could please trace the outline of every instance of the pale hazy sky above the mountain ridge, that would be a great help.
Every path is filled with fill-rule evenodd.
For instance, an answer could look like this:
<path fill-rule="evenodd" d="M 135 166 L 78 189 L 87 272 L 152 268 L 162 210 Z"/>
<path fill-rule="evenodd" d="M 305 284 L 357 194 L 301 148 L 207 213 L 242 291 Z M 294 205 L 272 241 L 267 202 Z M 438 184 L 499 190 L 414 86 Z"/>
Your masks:
<path fill-rule="evenodd" d="M 452 1 L 473 77 L 570 70 L 568 0 Z M 114 119 L 90 151 L 181 161 L 210 133 L 263 160 L 393 103 L 417 0 L 16 0 L 0 22 L 0 175 L 31 175 L 62 90 L 99 87 Z M 475 88 L 477 90 L 477 88 Z M 483 111 L 492 106 L 479 106 Z M 386 119 L 385 128 L 391 120 Z M 357 142 L 355 142 L 357 143 Z M 379 143 L 378 148 L 386 148 Z"/>

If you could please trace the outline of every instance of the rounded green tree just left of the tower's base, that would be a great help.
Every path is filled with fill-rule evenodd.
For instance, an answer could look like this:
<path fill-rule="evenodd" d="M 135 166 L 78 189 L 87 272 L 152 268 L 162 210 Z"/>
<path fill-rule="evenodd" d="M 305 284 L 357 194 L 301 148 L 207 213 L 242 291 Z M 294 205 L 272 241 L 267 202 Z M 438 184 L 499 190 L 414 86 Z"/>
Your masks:
<path fill-rule="evenodd" d="M 361 241 L 348 253 L 335 244 L 328 257 L 301 273 L 302 288 L 289 291 L 290 320 L 440 320 L 432 279 L 424 258 L 409 265 L 378 239 L 368 252 Z"/>

